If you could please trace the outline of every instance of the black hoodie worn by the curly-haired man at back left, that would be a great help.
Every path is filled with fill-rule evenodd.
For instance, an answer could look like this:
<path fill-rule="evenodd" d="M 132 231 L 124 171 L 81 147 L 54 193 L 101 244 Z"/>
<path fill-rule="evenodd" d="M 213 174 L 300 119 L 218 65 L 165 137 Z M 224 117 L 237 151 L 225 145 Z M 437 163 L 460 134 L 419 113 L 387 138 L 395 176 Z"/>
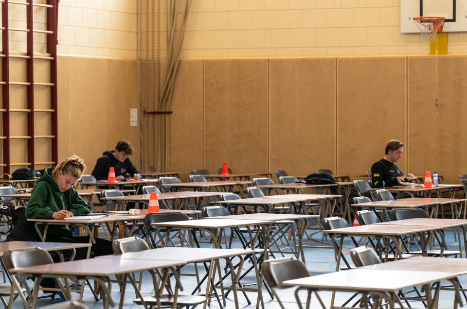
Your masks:
<path fill-rule="evenodd" d="M 111 167 L 115 169 L 115 177 L 123 175 L 126 178 L 126 173 L 128 173 L 130 177 L 133 178 L 134 174 L 140 173 L 133 163 L 131 163 L 129 157 L 127 157 L 125 161 L 120 162 L 113 156 L 113 152 L 113 150 L 108 150 L 103 153 L 103 156 L 97 159 L 96 166 L 92 171 L 92 176 L 97 180 L 107 180 L 108 170 Z"/>

